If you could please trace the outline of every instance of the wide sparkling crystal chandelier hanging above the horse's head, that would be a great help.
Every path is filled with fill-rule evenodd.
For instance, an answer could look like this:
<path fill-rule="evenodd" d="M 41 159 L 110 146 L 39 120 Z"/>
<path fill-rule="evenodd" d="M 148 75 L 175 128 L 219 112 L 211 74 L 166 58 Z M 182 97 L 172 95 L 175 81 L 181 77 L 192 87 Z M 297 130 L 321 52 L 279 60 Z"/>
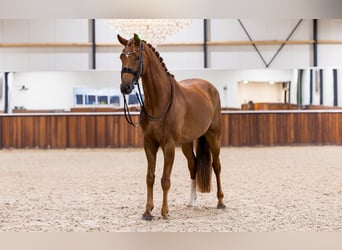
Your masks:
<path fill-rule="evenodd" d="M 105 23 L 126 38 L 136 33 L 157 46 L 191 24 L 188 19 L 106 19 Z"/>

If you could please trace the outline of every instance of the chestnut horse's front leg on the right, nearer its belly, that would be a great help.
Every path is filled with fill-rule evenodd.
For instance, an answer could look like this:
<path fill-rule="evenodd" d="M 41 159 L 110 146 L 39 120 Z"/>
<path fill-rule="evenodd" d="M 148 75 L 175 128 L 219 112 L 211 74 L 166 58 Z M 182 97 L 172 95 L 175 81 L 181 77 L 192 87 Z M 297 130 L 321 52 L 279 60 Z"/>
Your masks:
<path fill-rule="evenodd" d="M 171 171 L 172 165 L 175 158 L 175 143 L 168 142 L 166 145 L 162 146 L 164 154 L 164 170 L 161 179 L 161 185 L 163 188 L 163 205 L 161 209 L 161 215 L 163 218 L 167 218 L 169 213 L 168 206 L 168 192 L 171 186 Z"/>

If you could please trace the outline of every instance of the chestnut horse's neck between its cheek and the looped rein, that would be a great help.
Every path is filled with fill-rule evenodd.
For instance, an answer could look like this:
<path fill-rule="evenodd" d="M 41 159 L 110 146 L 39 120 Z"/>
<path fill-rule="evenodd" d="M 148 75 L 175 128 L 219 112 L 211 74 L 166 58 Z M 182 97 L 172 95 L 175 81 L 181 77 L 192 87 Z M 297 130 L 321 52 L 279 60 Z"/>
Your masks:
<path fill-rule="evenodd" d="M 173 79 L 159 60 L 150 60 L 149 63 L 148 70 L 142 77 L 145 108 L 151 115 L 158 115 L 163 112 L 169 102 Z"/>

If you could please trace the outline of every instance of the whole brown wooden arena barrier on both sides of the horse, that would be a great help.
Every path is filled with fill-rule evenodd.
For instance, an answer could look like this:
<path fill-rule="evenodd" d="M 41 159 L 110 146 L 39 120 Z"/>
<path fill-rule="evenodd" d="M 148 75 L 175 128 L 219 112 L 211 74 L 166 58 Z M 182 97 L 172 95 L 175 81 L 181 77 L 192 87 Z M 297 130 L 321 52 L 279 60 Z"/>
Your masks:
<path fill-rule="evenodd" d="M 222 146 L 342 145 L 339 110 L 223 111 L 222 124 Z M 142 146 L 121 113 L 0 115 L 0 148 Z"/>

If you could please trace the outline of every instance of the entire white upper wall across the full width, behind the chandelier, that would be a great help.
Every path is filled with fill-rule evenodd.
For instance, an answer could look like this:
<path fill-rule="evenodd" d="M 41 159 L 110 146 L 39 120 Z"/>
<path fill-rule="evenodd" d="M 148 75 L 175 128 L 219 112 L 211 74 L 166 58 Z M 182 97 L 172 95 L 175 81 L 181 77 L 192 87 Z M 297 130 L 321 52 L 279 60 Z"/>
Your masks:
<path fill-rule="evenodd" d="M 242 19 L 253 40 L 284 40 L 297 24 L 296 19 Z M 320 40 L 342 40 L 342 20 L 318 21 Z M 291 40 L 311 40 L 312 20 L 304 20 Z M 90 25 L 86 19 L 68 20 L 0 20 L 0 43 L 88 43 Z M 248 37 L 236 19 L 209 21 L 210 41 L 247 41 Z M 203 20 L 192 24 L 166 42 L 202 42 Z M 104 20 L 96 20 L 96 42 L 115 43 L 116 32 Z M 269 62 L 280 45 L 258 48 Z M 342 65 L 341 44 L 320 44 L 318 66 Z M 202 46 L 159 46 L 158 50 L 170 69 L 203 68 Z M 97 48 L 98 70 L 119 70 L 120 46 Z M 256 69 L 265 68 L 251 45 L 217 46 L 208 48 L 209 68 Z M 4 71 L 74 71 L 91 69 L 91 47 L 16 47 L 0 48 L 0 72 Z M 312 45 L 285 45 L 270 65 L 275 69 L 306 68 L 312 66 Z"/>

